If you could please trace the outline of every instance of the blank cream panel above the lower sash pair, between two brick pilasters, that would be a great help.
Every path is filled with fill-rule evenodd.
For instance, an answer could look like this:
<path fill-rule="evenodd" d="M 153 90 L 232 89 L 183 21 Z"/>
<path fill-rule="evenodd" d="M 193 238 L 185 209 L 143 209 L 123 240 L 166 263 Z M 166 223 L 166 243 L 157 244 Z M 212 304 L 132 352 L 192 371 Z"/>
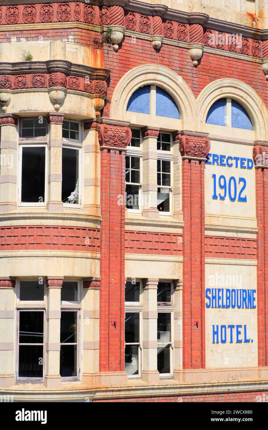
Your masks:
<path fill-rule="evenodd" d="M 163 255 L 125 255 L 126 278 L 182 279 L 182 258 Z"/>

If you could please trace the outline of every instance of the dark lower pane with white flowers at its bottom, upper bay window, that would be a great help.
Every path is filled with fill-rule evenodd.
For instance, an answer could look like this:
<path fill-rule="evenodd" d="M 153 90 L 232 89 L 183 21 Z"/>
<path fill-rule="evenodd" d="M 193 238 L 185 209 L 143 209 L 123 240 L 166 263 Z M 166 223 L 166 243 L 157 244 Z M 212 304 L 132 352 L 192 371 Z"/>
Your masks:
<path fill-rule="evenodd" d="M 68 197 L 74 192 L 79 178 L 79 149 L 62 148 L 62 201 L 71 203 Z M 77 199 L 73 203 L 78 204 Z"/>

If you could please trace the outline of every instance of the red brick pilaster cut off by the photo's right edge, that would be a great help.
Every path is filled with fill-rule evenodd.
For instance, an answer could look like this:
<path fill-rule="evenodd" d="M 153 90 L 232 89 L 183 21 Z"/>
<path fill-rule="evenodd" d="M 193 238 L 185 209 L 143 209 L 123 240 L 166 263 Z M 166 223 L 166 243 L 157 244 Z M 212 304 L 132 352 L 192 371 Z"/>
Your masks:
<path fill-rule="evenodd" d="M 268 144 L 253 148 L 256 171 L 258 365 L 268 366 Z"/>

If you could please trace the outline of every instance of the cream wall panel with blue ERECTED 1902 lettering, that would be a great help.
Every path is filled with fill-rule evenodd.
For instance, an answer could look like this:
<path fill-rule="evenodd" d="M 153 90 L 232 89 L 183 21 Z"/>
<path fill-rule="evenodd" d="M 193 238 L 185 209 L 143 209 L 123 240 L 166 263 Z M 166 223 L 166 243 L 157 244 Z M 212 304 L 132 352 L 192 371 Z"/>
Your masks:
<path fill-rule="evenodd" d="M 253 147 L 250 145 L 239 145 L 231 142 L 217 142 L 211 141 L 211 148 L 209 154 L 225 155 L 225 157 L 241 157 L 252 160 Z M 212 156 L 209 161 L 212 160 Z M 226 162 L 226 158 L 225 158 Z M 240 160 L 238 167 L 235 167 L 235 161 L 230 160 L 229 163 L 233 163 L 233 167 L 227 166 L 217 166 L 216 164 L 205 165 L 205 212 L 206 214 L 213 214 L 217 216 L 227 216 L 229 217 L 230 224 L 233 224 L 232 217 L 240 218 L 240 225 L 243 225 L 243 217 L 247 218 L 245 221 L 245 226 L 249 227 L 248 218 L 253 218 L 252 226 L 255 227 L 256 218 L 256 190 L 255 190 L 255 168 L 252 169 L 242 169 L 240 168 Z M 252 163 L 253 164 L 253 161 Z M 213 200 L 213 174 L 216 175 L 216 194 L 218 195 L 218 200 Z M 219 176 L 224 175 L 227 181 L 227 195 L 225 200 L 220 200 L 219 193 L 224 195 L 224 190 L 219 188 Z M 228 197 L 228 181 L 231 176 L 236 178 L 237 183 L 237 198 L 232 202 Z M 243 177 L 246 179 L 246 188 L 241 194 L 241 197 L 246 195 L 246 202 L 238 202 L 238 194 L 242 188 L 243 183 L 238 184 L 239 178 Z M 232 196 L 234 196 L 234 190 L 232 190 Z M 219 220 L 219 224 L 221 224 Z"/>

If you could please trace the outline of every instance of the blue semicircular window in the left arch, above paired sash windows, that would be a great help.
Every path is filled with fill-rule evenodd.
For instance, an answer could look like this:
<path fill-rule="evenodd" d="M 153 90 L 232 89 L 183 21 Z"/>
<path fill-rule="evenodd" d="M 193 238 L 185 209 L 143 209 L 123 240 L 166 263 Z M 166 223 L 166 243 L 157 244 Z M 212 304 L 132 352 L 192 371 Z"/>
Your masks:
<path fill-rule="evenodd" d="M 154 87 L 155 88 L 155 87 Z M 129 98 L 127 111 L 140 114 L 153 114 L 159 117 L 180 119 L 179 109 L 173 98 L 160 87 L 156 87 L 155 112 L 150 111 L 151 86 L 145 85 L 137 89 Z"/>

